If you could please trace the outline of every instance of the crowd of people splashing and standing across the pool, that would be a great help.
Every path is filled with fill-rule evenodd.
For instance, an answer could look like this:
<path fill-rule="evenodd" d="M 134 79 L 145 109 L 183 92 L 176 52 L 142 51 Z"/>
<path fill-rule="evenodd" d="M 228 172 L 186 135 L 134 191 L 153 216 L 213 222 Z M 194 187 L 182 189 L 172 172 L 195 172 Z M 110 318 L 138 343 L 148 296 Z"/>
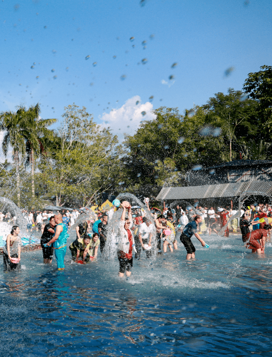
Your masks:
<path fill-rule="evenodd" d="M 272 230 L 272 207 L 263 203 L 251 204 L 239 212 L 228 207 L 217 207 L 217 210 L 214 210 L 213 207 L 201 207 L 199 204 L 196 207 L 184 207 L 184 210 L 179 205 L 175 209 L 164 205 L 161 212 L 156 208 L 150 209 L 148 202 L 145 202 L 145 209 L 132 207 L 128 201 L 121 203 L 115 200 L 114 203 L 111 210 L 96 212 L 95 219 L 79 219 L 78 224 L 75 224 L 75 221 L 80 213 L 76 209 L 55 214 L 50 211 L 23 211 L 27 231 L 37 230 L 42 234 L 44 263 L 51 264 L 55 253 L 58 270 L 65 269 L 64 258 L 71 227 L 76 234 L 75 240 L 69 245 L 71 260 L 80 264 L 95 261 L 98 249 L 100 248 L 101 254 L 105 249 L 109 222 L 118 209 L 122 210 L 117 243 L 120 277 L 124 274 L 131 275 L 133 251 L 137 260 L 141 257 L 141 251 L 147 259 L 152 254 L 160 255 L 162 250 L 164 253 L 167 249 L 172 252 L 178 248 L 178 233 L 187 251 L 186 259 L 193 259 L 196 256 L 196 248 L 191 239 L 193 235 L 202 246 L 208 247 L 202 235 L 211 235 L 214 232 L 228 237 L 230 230 L 236 233 L 240 227 L 246 246 L 252 249 L 252 252 L 261 254 L 265 251 L 265 244 L 270 239 Z M 0 214 L 0 219 L 1 217 Z M 11 219 L 10 214 L 9 218 Z M 3 248 L 4 271 L 20 268 L 19 233 L 19 227 L 13 225 L 6 238 Z"/>

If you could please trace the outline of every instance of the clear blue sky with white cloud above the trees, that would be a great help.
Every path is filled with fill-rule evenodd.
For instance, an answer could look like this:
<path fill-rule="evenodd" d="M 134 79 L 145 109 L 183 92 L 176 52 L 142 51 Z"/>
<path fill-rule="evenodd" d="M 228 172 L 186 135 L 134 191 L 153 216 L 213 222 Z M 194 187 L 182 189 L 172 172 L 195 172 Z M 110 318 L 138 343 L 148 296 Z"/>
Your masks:
<path fill-rule="evenodd" d="M 0 2 L 0 111 L 39 102 L 61 120 L 75 103 L 122 139 L 271 65 L 272 1 L 17 1 Z"/>

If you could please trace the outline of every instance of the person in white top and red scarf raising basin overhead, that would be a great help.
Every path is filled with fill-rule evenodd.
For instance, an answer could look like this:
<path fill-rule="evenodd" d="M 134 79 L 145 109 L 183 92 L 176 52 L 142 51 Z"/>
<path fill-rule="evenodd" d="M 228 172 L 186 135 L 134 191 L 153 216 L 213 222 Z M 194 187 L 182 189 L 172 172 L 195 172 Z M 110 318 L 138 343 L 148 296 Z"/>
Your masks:
<path fill-rule="evenodd" d="M 126 206 L 121 203 L 123 212 L 120 220 L 120 238 L 118 243 L 118 260 L 119 260 L 119 277 L 123 277 L 125 272 L 127 276 L 131 276 L 131 268 L 133 267 L 132 249 L 136 251 L 135 241 L 132 235 L 132 213 L 131 206 L 128 206 L 128 217 L 126 217 Z M 137 251 L 136 251 L 137 252 Z"/>

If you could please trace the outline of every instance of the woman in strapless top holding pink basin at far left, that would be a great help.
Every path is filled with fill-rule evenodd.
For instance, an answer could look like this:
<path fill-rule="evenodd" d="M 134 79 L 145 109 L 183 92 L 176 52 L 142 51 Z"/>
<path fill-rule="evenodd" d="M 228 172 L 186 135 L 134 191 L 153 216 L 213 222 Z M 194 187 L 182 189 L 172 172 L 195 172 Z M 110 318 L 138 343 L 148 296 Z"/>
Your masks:
<path fill-rule="evenodd" d="M 19 238 L 19 233 L 19 227 L 13 226 L 10 234 L 6 237 L 6 243 L 3 247 L 4 272 L 18 271 L 21 268 L 21 238 Z"/>

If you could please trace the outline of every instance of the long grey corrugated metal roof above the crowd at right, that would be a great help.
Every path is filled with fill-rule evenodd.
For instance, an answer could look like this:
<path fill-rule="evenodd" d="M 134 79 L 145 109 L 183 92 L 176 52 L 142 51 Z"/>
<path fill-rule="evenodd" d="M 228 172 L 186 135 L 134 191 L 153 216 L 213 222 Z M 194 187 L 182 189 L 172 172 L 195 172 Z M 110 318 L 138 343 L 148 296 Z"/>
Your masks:
<path fill-rule="evenodd" d="M 157 200 L 241 196 L 245 191 L 272 194 L 272 181 L 246 181 L 203 186 L 163 187 Z"/>

